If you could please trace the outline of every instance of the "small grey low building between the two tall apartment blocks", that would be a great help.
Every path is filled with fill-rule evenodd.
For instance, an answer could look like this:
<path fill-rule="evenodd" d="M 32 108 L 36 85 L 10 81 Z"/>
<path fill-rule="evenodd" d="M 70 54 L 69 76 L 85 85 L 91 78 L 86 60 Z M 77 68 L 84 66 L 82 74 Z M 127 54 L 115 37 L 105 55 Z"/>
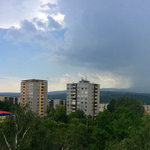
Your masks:
<path fill-rule="evenodd" d="M 63 105 L 66 108 L 66 100 L 61 100 L 61 99 L 50 99 L 48 101 L 49 107 L 56 108 L 56 105 Z"/>

